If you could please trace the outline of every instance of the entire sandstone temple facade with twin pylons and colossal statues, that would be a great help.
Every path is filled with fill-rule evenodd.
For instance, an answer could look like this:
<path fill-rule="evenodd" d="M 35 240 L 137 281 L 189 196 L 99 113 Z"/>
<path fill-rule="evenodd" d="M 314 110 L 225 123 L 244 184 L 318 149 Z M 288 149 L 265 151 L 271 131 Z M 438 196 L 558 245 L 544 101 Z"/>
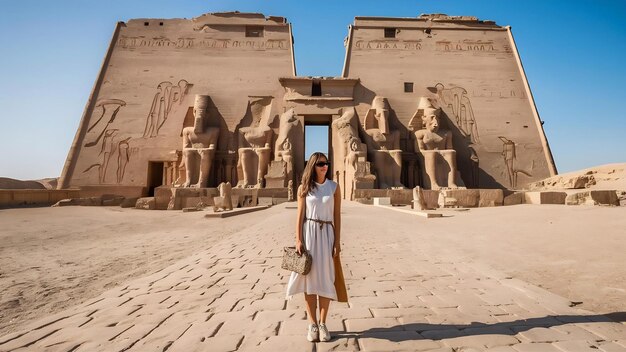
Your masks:
<path fill-rule="evenodd" d="M 262 14 L 119 22 L 59 188 L 158 197 L 229 182 L 288 198 L 308 125 L 328 126 L 346 199 L 556 174 L 510 27 L 356 17 L 341 77 L 297 76 L 293 43 L 285 18 Z"/>

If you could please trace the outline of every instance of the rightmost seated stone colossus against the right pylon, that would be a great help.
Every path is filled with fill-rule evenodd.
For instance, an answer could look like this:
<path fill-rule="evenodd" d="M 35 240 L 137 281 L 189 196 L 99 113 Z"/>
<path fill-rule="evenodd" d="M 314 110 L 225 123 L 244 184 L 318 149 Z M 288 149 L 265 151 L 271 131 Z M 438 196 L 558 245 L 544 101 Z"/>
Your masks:
<path fill-rule="evenodd" d="M 444 172 L 437 168 L 437 159 L 442 157 L 448 166 L 448 188 L 458 188 L 456 184 L 456 151 L 452 146 L 452 133 L 448 130 L 441 130 L 440 115 L 441 110 L 435 109 L 428 98 L 422 97 L 417 108 L 417 112 L 409 121 L 409 128 L 415 133 L 417 149 L 424 157 L 424 167 L 430 188 L 437 190 L 441 188 L 437 181 L 439 173 Z"/>

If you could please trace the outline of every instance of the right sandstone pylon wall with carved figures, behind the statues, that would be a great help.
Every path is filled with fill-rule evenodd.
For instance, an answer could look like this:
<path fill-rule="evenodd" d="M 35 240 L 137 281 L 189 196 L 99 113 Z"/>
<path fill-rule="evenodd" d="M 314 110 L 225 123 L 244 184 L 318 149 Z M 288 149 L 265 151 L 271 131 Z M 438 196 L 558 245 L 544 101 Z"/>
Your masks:
<path fill-rule="evenodd" d="M 521 188 L 554 175 L 510 28 L 438 17 L 355 19 L 343 76 L 361 80 L 355 91 L 361 121 L 375 95 L 387 97 L 392 128 L 402 132 L 402 149 L 413 151 L 408 122 L 419 97 L 431 97 L 453 131 L 466 185 Z M 395 29 L 395 38 L 385 38 L 385 28 Z M 405 92 L 405 82 L 412 84 L 412 92 Z M 472 171 L 472 153 L 479 159 L 478 175 Z"/>

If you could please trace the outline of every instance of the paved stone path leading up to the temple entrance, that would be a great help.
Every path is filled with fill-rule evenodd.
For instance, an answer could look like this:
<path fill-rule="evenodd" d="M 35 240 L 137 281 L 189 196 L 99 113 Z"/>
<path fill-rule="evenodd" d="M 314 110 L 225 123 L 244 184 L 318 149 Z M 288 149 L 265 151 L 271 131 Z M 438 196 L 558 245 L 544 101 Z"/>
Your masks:
<path fill-rule="evenodd" d="M 264 210 L 263 222 L 211 248 L 0 337 L 0 351 L 626 351 L 623 322 L 427 251 L 416 241 L 419 224 L 440 220 L 350 202 L 342 236 L 350 303 L 331 304 L 330 342 L 309 343 L 304 300 L 285 300 L 289 273 L 280 269 L 281 248 L 293 242 L 290 206 Z M 415 227 L 394 230 L 397 221 Z M 207 232 L 219 222 L 207 219 Z"/>

